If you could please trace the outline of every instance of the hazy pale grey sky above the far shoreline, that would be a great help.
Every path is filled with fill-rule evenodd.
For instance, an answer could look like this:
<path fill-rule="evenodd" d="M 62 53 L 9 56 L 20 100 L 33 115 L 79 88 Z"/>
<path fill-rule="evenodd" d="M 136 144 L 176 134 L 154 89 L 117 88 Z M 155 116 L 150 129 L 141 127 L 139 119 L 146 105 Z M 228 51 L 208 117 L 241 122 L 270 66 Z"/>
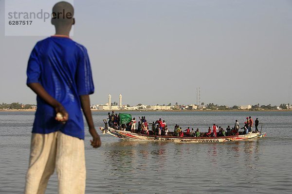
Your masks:
<path fill-rule="evenodd" d="M 52 1 L 52 6 L 57 1 Z M 292 104 L 292 0 L 74 0 L 92 104 Z M 0 0 L 4 18 L 4 0 Z M 52 26 L 52 28 L 54 28 Z M 36 103 L 26 65 L 41 36 L 5 36 L 0 102 Z"/>

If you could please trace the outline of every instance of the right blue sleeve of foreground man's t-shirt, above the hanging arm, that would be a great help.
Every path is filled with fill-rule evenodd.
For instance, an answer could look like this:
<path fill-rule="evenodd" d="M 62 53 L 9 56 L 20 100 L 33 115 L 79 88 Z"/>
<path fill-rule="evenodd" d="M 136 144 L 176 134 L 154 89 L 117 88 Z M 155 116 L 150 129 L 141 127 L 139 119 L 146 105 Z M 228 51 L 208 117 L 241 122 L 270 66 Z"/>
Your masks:
<path fill-rule="evenodd" d="M 79 47 L 79 59 L 75 75 L 78 95 L 93 94 L 94 85 L 92 80 L 91 65 L 87 50 L 82 46 Z"/>

